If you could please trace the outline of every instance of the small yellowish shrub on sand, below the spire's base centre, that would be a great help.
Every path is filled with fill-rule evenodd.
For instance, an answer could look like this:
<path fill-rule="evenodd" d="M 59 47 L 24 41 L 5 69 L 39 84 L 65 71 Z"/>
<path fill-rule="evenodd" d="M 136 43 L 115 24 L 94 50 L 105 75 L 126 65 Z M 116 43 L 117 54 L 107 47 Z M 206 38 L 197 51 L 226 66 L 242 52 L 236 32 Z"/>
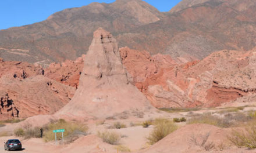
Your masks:
<path fill-rule="evenodd" d="M 118 144 L 119 140 L 120 140 L 120 136 L 119 134 L 115 133 L 115 132 L 98 132 L 98 137 L 100 137 L 102 139 L 102 141 L 104 141 L 105 143 L 108 144 Z"/>

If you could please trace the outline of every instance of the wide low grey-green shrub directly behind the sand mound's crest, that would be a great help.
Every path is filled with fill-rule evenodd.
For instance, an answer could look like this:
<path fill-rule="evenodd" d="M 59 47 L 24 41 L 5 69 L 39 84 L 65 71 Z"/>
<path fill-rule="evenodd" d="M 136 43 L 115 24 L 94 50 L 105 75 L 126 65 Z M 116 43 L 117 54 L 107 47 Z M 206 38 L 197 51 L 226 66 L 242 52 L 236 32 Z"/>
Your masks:
<path fill-rule="evenodd" d="M 219 126 L 221 128 L 229 128 L 232 122 L 229 119 L 223 119 L 218 116 L 214 116 L 211 113 L 206 113 L 202 115 L 194 115 L 188 121 L 187 124 L 203 123 L 214 126 Z"/>

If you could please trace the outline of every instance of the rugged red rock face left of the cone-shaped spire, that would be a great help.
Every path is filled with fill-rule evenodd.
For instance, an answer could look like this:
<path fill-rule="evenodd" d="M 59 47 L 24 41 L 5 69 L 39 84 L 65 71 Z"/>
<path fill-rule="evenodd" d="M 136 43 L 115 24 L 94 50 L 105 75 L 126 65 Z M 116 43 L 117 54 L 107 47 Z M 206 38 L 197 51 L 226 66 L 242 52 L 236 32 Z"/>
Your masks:
<path fill-rule="evenodd" d="M 79 64 L 74 63 L 79 62 L 83 63 L 83 60 L 72 62 L 74 66 L 63 64 L 63 67 L 72 67 L 71 72 L 76 72 Z M 72 99 L 75 91 L 72 86 L 77 85 L 76 79 L 73 83 L 59 83 L 46 78 L 41 66 L 26 62 L 0 60 L 0 70 L 0 120 L 53 114 Z M 68 72 L 63 74 L 75 78 L 76 74 L 69 73 L 69 70 L 66 68 Z M 48 70 L 47 74 L 50 74 Z M 59 75 L 49 75 L 52 76 L 61 80 Z"/>

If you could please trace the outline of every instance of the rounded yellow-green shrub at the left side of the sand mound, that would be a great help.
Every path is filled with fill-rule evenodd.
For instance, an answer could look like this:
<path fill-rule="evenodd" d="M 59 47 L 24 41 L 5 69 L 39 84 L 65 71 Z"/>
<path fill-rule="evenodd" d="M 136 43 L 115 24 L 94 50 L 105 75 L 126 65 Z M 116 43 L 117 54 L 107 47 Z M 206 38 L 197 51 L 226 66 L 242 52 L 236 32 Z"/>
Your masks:
<path fill-rule="evenodd" d="M 177 126 L 172 121 L 169 121 L 169 119 L 156 119 L 154 121 L 154 130 L 150 133 L 150 136 L 147 137 L 148 143 L 157 143 L 176 129 Z"/>

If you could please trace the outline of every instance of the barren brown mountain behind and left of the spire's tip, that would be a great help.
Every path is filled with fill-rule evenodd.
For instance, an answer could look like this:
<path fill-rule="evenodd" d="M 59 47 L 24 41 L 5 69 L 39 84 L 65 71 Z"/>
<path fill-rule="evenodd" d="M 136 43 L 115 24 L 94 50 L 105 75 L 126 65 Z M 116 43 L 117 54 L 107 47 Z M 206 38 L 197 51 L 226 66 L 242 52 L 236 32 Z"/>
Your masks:
<path fill-rule="evenodd" d="M 6 60 L 75 60 L 88 50 L 93 31 L 104 27 L 111 32 L 125 32 L 160 20 L 164 15 L 140 0 L 91 3 L 66 9 L 40 23 L 0 31 L 0 57 Z"/>

